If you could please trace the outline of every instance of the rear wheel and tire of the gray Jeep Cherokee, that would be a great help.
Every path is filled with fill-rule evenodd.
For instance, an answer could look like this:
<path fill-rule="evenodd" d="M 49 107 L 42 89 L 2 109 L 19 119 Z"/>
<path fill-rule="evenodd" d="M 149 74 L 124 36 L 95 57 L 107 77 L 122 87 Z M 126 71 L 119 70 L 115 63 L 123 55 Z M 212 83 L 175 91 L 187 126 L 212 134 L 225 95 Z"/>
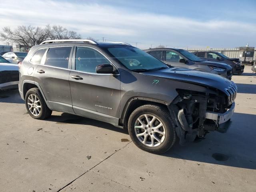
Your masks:
<path fill-rule="evenodd" d="M 30 116 L 34 119 L 46 119 L 51 116 L 52 110 L 48 108 L 38 88 L 31 88 L 25 96 L 25 104 Z"/>

